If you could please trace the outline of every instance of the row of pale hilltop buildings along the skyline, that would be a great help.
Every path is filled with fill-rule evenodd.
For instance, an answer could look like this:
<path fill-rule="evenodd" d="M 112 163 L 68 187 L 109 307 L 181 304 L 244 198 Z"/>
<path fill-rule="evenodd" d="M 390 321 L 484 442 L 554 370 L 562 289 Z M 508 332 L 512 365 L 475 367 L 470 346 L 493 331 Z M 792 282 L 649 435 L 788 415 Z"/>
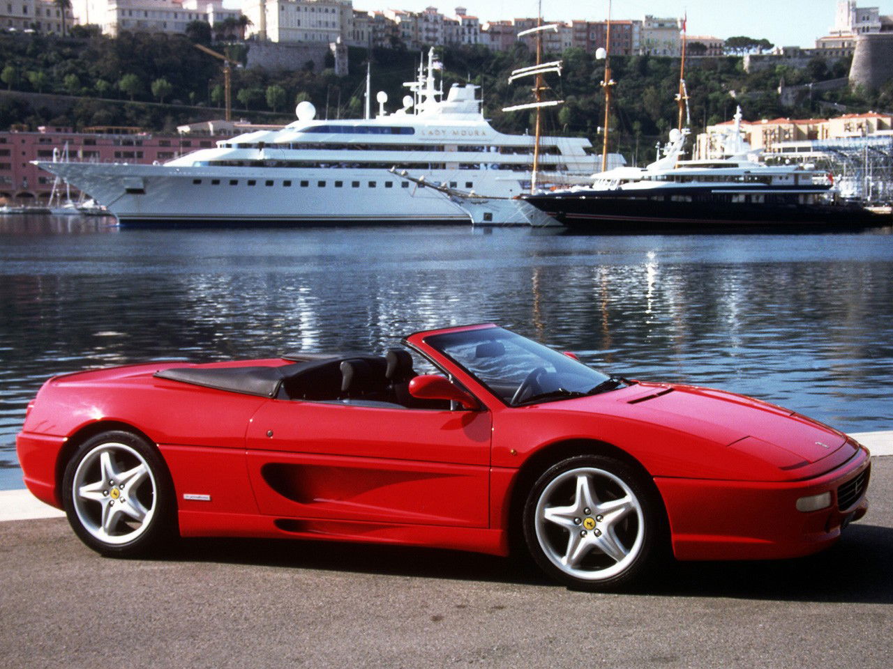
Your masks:
<path fill-rule="evenodd" d="M 183 33 L 193 21 L 206 22 L 221 37 L 237 37 L 285 45 L 330 44 L 421 49 L 429 45 L 482 45 L 492 51 L 511 50 L 518 33 L 537 24 L 536 18 L 495 19 L 471 16 L 464 7 L 452 15 L 430 6 L 423 12 L 388 9 L 363 12 L 352 0 L 243 0 L 238 9 L 222 0 L 71 0 L 64 16 L 58 0 L 14 0 L 0 4 L 0 26 L 61 34 L 71 25 L 96 25 L 105 35 L 122 31 Z M 548 22 L 548 17 L 545 17 Z M 611 21 L 613 54 L 679 56 L 679 17 L 646 15 L 642 19 Z M 594 53 L 606 42 L 606 21 L 555 23 L 543 35 L 549 53 L 580 48 Z M 893 16 L 878 7 L 859 7 L 841 0 L 827 35 L 817 37 L 815 51 L 849 55 L 855 38 L 866 33 L 893 32 Z M 759 37 L 759 36 L 754 36 Z M 523 37 L 530 47 L 535 37 Z M 742 46 L 712 35 L 689 35 L 689 55 L 718 56 L 742 53 Z M 767 46 L 767 45 L 764 45 Z M 776 53 L 786 45 L 771 45 Z M 744 48 L 747 51 L 747 48 Z M 766 50 L 763 47 L 757 50 Z M 799 51 L 803 51 L 802 49 Z"/>

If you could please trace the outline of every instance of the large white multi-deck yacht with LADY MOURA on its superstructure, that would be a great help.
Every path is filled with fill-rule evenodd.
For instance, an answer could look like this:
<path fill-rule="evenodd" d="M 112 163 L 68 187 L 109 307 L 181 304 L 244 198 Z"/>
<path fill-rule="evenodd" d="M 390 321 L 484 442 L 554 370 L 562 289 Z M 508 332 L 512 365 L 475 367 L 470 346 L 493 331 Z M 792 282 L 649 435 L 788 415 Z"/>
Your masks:
<path fill-rule="evenodd" d="M 530 188 L 534 137 L 497 132 L 484 119 L 477 87 L 443 95 L 433 50 L 405 84 L 403 107 L 363 120 L 317 120 L 300 103 L 279 130 L 235 136 L 163 164 L 38 162 L 88 193 L 121 225 L 328 222 L 467 222 L 468 214 L 429 188 L 396 178 L 408 169 L 427 182 L 513 197 Z M 540 180 L 580 183 L 596 167 L 584 138 L 540 137 Z"/>

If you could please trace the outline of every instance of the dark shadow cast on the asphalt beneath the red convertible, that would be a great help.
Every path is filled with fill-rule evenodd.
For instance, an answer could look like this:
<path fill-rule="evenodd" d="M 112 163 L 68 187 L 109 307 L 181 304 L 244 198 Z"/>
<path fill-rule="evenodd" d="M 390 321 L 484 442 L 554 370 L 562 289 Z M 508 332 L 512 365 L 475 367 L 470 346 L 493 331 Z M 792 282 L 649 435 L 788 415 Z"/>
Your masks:
<path fill-rule="evenodd" d="M 683 562 L 637 594 L 893 604 L 893 528 L 853 524 L 832 548 L 790 560 Z M 527 559 L 329 541 L 189 539 L 168 558 L 561 587 Z"/>

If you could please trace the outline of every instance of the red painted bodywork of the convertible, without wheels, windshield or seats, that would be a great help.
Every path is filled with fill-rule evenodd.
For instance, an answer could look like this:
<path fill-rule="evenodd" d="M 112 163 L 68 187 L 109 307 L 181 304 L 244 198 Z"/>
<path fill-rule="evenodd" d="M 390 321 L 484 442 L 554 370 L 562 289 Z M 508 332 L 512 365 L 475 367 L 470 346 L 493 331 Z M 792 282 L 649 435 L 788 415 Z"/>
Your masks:
<path fill-rule="evenodd" d="M 286 359 L 153 362 L 50 379 L 17 448 L 25 483 L 63 507 L 79 443 L 104 430 L 145 436 L 176 492 L 182 536 L 304 537 L 509 552 L 531 482 L 568 453 L 621 458 L 659 491 L 683 560 L 791 558 L 864 515 L 868 451 L 763 401 L 687 385 L 510 406 L 431 345 L 408 336 L 470 393 L 475 410 L 283 400 L 154 376 L 169 368 L 281 367 Z M 844 493 L 848 491 L 846 499 Z M 830 493 L 827 508 L 797 500 Z M 854 497 L 855 495 L 855 497 Z"/>

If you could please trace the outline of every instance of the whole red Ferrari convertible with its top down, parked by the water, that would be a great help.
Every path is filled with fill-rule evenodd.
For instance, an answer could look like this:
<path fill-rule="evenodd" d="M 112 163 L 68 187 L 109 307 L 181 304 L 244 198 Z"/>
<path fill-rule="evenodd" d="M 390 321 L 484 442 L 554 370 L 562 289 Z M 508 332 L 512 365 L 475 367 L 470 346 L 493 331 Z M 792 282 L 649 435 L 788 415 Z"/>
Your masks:
<path fill-rule="evenodd" d="M 868 451 L 788 409 L 605 376 L 494 325 L 403 343 L 56 376 L 18 436 L 25 483 L 104 555 L 177 536 L 496 555 L 516 539 L 591 590 L 671 550 L 813 553 L 868 508 Z"/>

